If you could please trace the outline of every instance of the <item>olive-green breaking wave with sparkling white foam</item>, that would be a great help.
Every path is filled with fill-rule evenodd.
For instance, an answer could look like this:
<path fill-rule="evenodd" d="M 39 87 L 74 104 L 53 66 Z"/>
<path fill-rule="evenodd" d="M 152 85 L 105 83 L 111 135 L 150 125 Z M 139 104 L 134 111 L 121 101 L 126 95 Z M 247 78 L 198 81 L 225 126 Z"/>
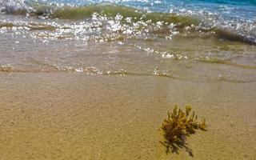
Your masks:
<path fill-rule="evenodd" d="M 224 39 L 231 42 L 244 42 L 246 44 L 256 44 L 256 36 L 253 31 L 255 27 L 249 26 L 244 30 L 234 30 L 232 28 L 222 28 L 221 26 L 207 24 L 202 18 L 192 15 L 181 15 L 173 13 L 158 13 L 146 12 L 145 10 L 138 10 L 129 6 L 118 6 L 110 3 L 101 3 L 98 5 L 89 6 L 58 6 L 47 5 L 38 2 L 24 2 L 24 0 L 8 0 L 2 2 L 1 10 L 5 14 L 25 15 L 26 17 L 37 17 L 47 19 L 66 19 L 74 22 L 94 22 L 95 17 L 99 21 L 112 22 L 118 20 L 119 28 L 121 26 L 134 28 L 137 25 L 137 30 L 140 33 L 150 32 L 150 34 L 157 34 L 159 37 L 164 37 L 173 33 L 196 33 L 194 36 L 202 36 L 205 33 L 207 37 L 214 37 Z M 95 16 L 96 15 L 96 16 Z M 14 26 L 24 26 L 30 30 L 58 30 L 59 28 L 50 24 L 17 24 L 18 22 L 0 22 L 0 28 L 11 28 Z M 112 22 L 114 23 L 114 22 Z M 73 23 L 74 24 L 74 23 Z M 106 27 L 103 23 L 101 26 L 91 27 Z M 106 24 L 105 24 L 106 25 Z M 58 25 L 60 28 L 69 29 L 68 25 Z M 240 26 L 243 26 L 242 24 Z M 86 27 L 86 26 L 85 26 Z M 136 27 L 136 26 L 135 26 Z M 127 27 L 126 27 L 127 28 Z M 151 29 L 150 29 L 151 28 Z M 154 28 L 154 29 L 152 29 Z M 250 31 L 248 31 L 249 29 Z M 174 29 L 174 30 L 173 30 Z M 118 30 L 124 33 L 125 30 Z M 126 30 L 127 31 L 127 30 Z M 134 34 L 133 30 L 128 32 Z M 248 34 L 246 34 L 246 31 Z M 62 36 L 59 36 L 62 37 Z M 64 36 L 65 38 L 65 36 Z"/>

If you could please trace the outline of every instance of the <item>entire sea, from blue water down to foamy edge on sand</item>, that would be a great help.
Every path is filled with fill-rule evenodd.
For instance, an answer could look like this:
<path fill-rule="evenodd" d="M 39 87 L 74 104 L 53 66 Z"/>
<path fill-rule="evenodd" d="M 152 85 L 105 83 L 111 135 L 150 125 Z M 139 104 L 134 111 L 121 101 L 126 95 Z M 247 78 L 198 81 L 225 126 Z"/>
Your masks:
<path fill-rule="evenodd" d="M 256 1 L 0 1 L 0 71 L 256 81 Z"/>

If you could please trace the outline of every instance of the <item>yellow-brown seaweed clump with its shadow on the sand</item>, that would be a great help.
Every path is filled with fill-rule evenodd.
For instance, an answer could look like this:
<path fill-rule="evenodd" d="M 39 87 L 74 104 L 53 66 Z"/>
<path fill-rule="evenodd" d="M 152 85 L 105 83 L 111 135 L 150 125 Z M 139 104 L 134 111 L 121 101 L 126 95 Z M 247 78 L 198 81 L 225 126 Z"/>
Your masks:
<path fill-rule="evenodd" d="M 186 106 L 186 110 L 182 111 L 177 105 L 174 106 L 172 112 L 168 112 L 168 117 L 162 122 L 161 130 L 163 131 L 165 142 L 161 142 L 166 146 L 166 154 L 170 147 L 172 152 L 178 153 L 178 148 L 186 148 L 190 156 L 193 156 L 192 150 L 186 146 L 186 136 L 194 134 L 195 130 L 206 130 L 206 119 L 198 122 L 198 116 L 190 114 L 191 106 Z"/>

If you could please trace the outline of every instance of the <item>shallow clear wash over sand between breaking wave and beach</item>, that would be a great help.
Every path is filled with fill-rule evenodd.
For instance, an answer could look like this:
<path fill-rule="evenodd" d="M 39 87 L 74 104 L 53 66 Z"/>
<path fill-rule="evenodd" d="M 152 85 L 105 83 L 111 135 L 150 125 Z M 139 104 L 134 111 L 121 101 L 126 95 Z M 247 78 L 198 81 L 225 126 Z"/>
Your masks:
<path fill-rule="evenodd" d="M 198 42 L 201 41 L 201 44 Z M 254 82 L 255 46 L 179 39 L 125 42 L 2 39 L 2 71 L 162 76 L 198 82 Z M 210 45 L 202 45 L 210 44 Z M 34 51 L 36 49 L 36 51 Z"/>

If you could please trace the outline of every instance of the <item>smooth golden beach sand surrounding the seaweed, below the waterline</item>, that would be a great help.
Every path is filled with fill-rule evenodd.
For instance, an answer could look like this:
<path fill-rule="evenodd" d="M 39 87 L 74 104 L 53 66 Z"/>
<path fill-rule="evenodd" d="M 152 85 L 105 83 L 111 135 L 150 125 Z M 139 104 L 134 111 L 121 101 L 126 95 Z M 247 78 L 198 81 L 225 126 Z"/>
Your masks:
<path fill-rule="evenodd" d="M 155 76 L 0 74 L 0 155 L 13 159 L 254 159 L 256 83 Z M 191 104 L 207 131 L 166 154 L 158 131 Z"/>

